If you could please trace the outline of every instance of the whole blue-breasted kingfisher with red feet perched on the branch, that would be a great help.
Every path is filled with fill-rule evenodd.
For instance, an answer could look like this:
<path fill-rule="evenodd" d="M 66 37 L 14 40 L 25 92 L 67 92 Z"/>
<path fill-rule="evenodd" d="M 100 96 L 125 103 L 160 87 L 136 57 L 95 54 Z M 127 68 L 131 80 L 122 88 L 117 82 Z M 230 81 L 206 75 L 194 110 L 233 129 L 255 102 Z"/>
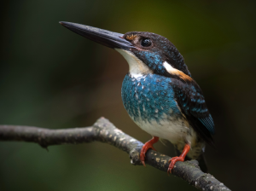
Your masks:
<path fill-rule="evenodd" d="M 183 55 L 167 38 L 152 32 L 109 32 L 92 26 L 61 21 L 62 26 L 117 50 L 129 64 L 121 96 L 131 119 L 153 138 L 143 145 L 140 159 L 159 140 L 172 142 L 177 157 L 169 160 L 168 173 L 177 161 L 203 157 L 206 143 L 214 146 L 215 127 L 200 86 L 191 77 Z M 155 150 L 155 149 L 154 149 Z"/>

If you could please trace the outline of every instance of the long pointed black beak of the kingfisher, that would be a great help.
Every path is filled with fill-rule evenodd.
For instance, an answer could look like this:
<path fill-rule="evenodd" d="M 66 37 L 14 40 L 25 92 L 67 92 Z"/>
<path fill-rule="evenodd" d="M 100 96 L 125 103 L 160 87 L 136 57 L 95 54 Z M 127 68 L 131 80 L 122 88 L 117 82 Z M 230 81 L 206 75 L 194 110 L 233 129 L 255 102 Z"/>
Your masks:
<path fill-rule="evenodd" d="M 89 38 L 96 43 L 101 43 L 102 45 L 108 46 L 112 49 L 131 49 L 135 48 L 132 43 L 123 38 L 124 34 L 117 32 L 109 32 L 100 28 L 92 26 L 84 26 L 72 22 L 60 22 L 62 26 L 67 27 L 67 29 L 78 33 L 84 38 Z"/>

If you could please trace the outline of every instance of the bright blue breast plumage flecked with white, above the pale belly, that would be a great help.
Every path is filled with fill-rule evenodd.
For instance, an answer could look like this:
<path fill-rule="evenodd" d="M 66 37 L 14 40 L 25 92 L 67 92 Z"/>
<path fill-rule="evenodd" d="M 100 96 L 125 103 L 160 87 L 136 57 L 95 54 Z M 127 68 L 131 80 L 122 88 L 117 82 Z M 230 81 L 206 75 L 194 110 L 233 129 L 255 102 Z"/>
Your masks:
<path fill-rule="evenodd" d="M 122 85 L 122 99 L 125 109 L 134 121 L 141 118 L 149 123 L 154 120 L 160 124 L 164 114 L 181 118 L 175 93 L 172 89 L 172 79 L 156 74 L 147 74 L 141 78 L 132 78 L 126 74 Z"/>

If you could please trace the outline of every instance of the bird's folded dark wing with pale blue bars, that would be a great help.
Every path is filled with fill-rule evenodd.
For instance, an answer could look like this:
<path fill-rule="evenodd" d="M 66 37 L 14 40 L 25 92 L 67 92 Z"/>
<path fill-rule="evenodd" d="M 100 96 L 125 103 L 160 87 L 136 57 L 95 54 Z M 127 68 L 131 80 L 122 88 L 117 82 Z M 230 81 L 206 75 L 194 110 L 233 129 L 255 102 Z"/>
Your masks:
<path fill-rule="evenodd" d="M 194 80 L 185 84 L 178 80 L 175 84 L 177 103 L 189 124 L 204 141 L 213 146 L 214 123 L 199 85 Z"/>

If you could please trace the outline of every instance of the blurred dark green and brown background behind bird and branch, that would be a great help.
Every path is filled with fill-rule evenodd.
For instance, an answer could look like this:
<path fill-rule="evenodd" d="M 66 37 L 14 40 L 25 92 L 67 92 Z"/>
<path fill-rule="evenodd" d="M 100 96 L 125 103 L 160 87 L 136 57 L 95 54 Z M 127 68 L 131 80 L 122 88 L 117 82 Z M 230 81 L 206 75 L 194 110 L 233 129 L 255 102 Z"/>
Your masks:
<path fill-rule="evenodd" d="M 6 1 L 1 5 L 0 124 L 59 129 L 104 116 L 142 142 L 125 112 L 128 72 L 113 49 L 59 21 L 113 32 L 146 31 L 172 41 L 204 91 L 216 124 L 209 172 L 232 190 L 253 190 L 256 157 L 255 1 Z M 174 156 L 172 145 L 157 143 Z M 133 166 L 108 144 L 49 147 L 0 142 L 0 190 L 195 190 L 150 166 Z"/>

